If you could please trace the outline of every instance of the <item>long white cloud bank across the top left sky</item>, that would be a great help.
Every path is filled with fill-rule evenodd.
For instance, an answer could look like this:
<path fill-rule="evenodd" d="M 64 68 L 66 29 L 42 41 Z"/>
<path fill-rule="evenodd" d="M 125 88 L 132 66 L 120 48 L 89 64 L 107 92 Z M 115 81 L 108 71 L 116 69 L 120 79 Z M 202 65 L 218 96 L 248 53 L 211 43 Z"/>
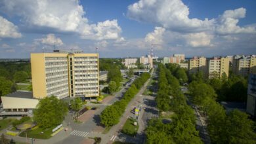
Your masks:
<path fill-rule="evenodd" d="M 0 1 L 0 10 L 20 16 L 28 26 L 51 27 L 57 31 L 79 33 L 83 39 L 119 39 L 117 20 L 89 24 L 79 0 Z"/>

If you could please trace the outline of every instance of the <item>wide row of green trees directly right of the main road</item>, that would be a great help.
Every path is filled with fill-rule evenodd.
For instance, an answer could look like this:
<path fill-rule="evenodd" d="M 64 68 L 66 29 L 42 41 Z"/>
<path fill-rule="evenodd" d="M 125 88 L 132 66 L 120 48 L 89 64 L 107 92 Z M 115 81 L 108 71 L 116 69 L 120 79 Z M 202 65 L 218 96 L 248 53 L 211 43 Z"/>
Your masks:
<path fill-rule="evenodd" d="M 173 111 L 175 116 L 165 124 L 161 118 L 150 120 L 146 128 L 147 143 L 202 143 L 195 127 L 194 111 L 186 104 L 179 81 L 162 64 L 158 65 L 157 107 Z"/>

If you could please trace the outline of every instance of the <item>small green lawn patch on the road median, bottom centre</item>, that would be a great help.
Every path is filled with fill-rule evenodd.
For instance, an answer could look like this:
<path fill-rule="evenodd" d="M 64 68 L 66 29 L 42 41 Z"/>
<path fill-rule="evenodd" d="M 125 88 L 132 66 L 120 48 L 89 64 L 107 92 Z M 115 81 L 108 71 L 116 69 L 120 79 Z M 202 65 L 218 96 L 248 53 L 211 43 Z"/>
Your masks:
<path fill-rule="evenodd" d="M 123 129 L 121 130 L 121 132 L 123 134 L 127 134 L 127 135 L 131 135 L 134 136 L 137 134 L 137 131 L 139 130 L 139 124 L 137 124 L 137 126 L 134 125 L 134 122 L 136 120 L 133 120 L 131 118 L 128 118 L 125 122 L 125 125 L 123 126 Z"/>

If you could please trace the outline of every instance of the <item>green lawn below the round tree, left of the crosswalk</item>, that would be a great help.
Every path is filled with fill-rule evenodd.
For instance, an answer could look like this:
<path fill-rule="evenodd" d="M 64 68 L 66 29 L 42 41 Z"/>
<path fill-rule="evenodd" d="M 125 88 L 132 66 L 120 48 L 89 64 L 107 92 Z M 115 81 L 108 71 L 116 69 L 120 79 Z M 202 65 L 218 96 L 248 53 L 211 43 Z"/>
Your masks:
<path fill-rule="evenodd" d="M 22 133 L 20 133 L 21 137 L 26 137 L 26 133 L 28 134 L 28 137 L 35 138 L 35 139 L 49 139 L 51 137 L 51 134 L 53 128 L 43 129 L 43 128 L 35 128 L 34 130 L 26 130 Z M 43 132 L 43 134 L 41 134 Z"/>

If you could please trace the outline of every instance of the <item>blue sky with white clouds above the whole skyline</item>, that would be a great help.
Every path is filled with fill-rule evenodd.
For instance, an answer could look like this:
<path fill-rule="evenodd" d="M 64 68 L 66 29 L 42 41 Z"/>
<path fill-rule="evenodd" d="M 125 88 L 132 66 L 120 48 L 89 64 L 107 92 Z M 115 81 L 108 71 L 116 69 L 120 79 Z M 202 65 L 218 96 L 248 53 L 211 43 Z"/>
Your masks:
<path fill-rule="evenodd" d="M 100 57 L 256 54 L 254 0 L 1 0 L 0 58 L 54 48 Z M 153 45 L 152 45 L 153 44 Z"/>

